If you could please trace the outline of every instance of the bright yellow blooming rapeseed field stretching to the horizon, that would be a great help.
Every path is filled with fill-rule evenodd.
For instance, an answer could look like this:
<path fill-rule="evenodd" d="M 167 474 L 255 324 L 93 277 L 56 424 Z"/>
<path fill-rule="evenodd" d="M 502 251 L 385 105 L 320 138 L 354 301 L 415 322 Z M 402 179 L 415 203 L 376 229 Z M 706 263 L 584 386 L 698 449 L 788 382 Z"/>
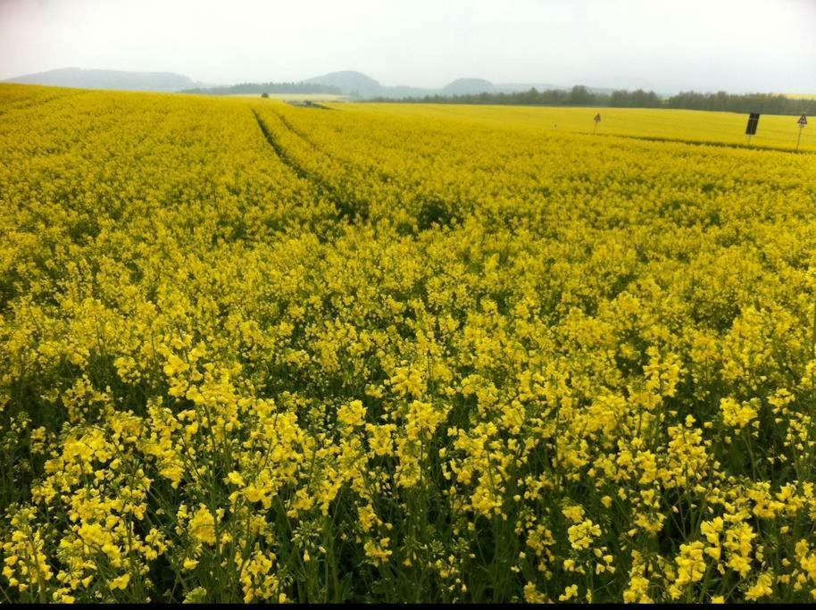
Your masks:
<path fill-rule="evenodd" d="M 816 155 L 334 108 L 0 86 L 4 600 L 812 601 Z"/>

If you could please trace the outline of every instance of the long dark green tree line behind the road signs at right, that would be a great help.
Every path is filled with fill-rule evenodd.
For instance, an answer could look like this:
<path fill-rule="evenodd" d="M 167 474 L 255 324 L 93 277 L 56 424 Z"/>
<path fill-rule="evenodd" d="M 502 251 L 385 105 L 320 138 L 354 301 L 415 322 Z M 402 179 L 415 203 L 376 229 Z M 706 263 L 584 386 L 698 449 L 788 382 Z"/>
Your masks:
<path fill-rule="evenodd" d="M 609 106 L 613 108 L 682 108 L 687 110 L 713 110 L 731 113 L 816 114 L 816 100 L 793 99 L 765 93 L 734 95 L 696 93 L 687 91 L 668 98 L 659 97 L 654 91 L 612 91 L 595 93 L 583 86 L 570 90 L 531 88 L 517 93 L 479 93 L 460 96 L 421 96 L 389 99 L 376 97 L 371 102 L 420 103 L 420 104 L 507 104 L 507 105 L 553 105 L 553 106 Z"/>

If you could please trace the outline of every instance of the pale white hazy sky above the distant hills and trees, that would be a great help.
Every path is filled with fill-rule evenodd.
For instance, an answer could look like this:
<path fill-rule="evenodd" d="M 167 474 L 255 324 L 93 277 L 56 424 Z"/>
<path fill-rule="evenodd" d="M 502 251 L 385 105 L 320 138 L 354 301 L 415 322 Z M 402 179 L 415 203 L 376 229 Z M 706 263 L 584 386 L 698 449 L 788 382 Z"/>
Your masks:
<path fill-rule="evenodd" d="M 66 66 L 816 92 L 816 0 L 0 0 L 0 79 Z"/>

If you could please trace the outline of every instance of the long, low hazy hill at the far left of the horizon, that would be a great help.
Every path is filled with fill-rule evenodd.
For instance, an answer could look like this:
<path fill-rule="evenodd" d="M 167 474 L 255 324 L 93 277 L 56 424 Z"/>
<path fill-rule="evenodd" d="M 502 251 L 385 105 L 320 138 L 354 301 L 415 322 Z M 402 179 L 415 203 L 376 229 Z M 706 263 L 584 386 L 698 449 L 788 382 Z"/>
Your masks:
<path fill-rule="evenodd" d="M 51 85 L 82 89 L 119 89 L 121 91 L 180 91 L 199 83 L 174 72 L 131 72 L 121 70 L 83 70 L 61 68 L 26 74 L 4 82 L 27 85 Z"/>

